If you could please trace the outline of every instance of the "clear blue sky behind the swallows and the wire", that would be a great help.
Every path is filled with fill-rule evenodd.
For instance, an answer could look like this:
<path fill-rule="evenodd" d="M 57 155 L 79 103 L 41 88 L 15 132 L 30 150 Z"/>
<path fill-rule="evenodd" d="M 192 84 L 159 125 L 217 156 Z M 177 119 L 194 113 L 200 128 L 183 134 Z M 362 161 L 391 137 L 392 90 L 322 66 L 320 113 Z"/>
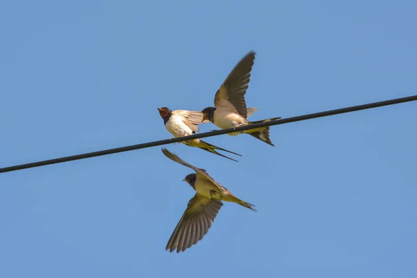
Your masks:
<path fill-rule="evenodd" d="M 416 1 L 2 1 L 0 167 L 170 138 L 256 51 L 252 120 L 417 92 Z M 201 131 L 213 129 L 204 124 Z M 165 245 L 194 191 L 161 147 L 0 174 L 0 277 L 417 277 L 417 103 L 170 151 L 256 205 Z"/>

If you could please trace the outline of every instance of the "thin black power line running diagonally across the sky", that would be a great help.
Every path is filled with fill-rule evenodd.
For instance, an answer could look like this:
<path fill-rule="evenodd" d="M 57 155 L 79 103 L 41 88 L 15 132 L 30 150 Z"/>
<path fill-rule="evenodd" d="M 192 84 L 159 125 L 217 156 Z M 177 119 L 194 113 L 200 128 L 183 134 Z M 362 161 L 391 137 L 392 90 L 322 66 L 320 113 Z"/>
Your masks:
<path fill-rule="evenodd" d="M 315 119 L 317 117 L 327 117 L 327 116 L 349 113 L 349 112 L 354 112 L 354 111 L 360 111 L 360 110 L 365 110 L 365 109 L 370 109 L 370 108 L 377 108 L 377 107 L 381 107 L 381 106 L 401 104 L 401 103 L 404 103 L 404 102 L 416 101 L 416 100 L 417 100 L 417 95 L 414 95 L 414 96 L 411 96 L 411 97 L 401 97 L 400 99 L 390 99 L 390 100 L 386 100 L 386 101 L 373 102 L 371 104 L 350 106 L 350 107 L 346 107 L 346 108 L 334 109 L 334 110 L 329 110 L 329 111 L 324 111 L 324 112 L 319 112 L 319 113 L 313 113 L 313 114 L 307 114 L 307 115 L 301 115 L 301 116 L 296 116 L 296 117 L 287 117 L 286 119 L 273 120 L 273 121 L 269 121 L 269 122 L 261 122 L 261 123 L 258 123 L 258 124 L 250 124 L 250 125 L 247 125 L 247 126 L 239 126 L 239 127 L 232 128 L 232 129 L 222 129 L 222 130 L 218 130 L 218 131 L 210 131 L 210 132 L 195 134 L 195 135 L 192 135 L 192 136 L 185 136 L 185 137 L 181 137 L 181 138 L 171 138 L 171 139 L 159 140 L 159 141 L 154 141 L 154 142 L 146 142 L 146 143 L 142 143 L 142 144 L 138 144 L 138 145 L 118 147 L 118 148 L 115 148 L 115 149 L 106 149 L 106 150 L 98 151 L 98 152 L 89 152 L 87 154 L 77 154 L 75 156 L 65 156 L 65 157 L 61 157 L 61 158 L 54 158 L 54 159 L 49 159 L 47 161 L 38 161 L 38 162 L 26 163 L 26 164 L 22 164 L 22 165 L 3 167 L 3 168 L 0 168 L 0 173 L 12 172 L 12 171 L 17 171 L 17 170 L 33 168 L 33 167 L 40 167 L 40 166 L 44 166 L 44 165 L 56 164 L 56 163 L 63 163 L 63 162 L 67 162 L 67 161 L 76 161 L 76 160 L 79 160 L 79 159 L 90 158 L 90 157 L 95 157 L 95 156 L 105 156 L 107 154 L 117 154 L 119 152 L 133 151 L 134 149 L 145 149 L 145 148 L 148 148 L 148 147 L 156 147 L 156 146 L 161 146 L 161 145 L 167 145 L 167 144 L 172 144 L 172 143 L 175 143 L 175 142 L 182 142 L 182 141 L 192 140 L 192 139 L 197 139 L 197 138 L 206 138 L 206 137 L 211 137 L 211 136 L 218 136 L 218 135 L 232 133 L 232 132 L 236 132 L 236 131 L 246 131 L 246 130 L 249 130 L 249 129 L 256 129 L 256 128 L 263 127 L 263 126 L 275 126 L 277 124 L 288 124 L 289 122 L 300 122 L 300 121 L 304 121 L 304 120 Z"/>

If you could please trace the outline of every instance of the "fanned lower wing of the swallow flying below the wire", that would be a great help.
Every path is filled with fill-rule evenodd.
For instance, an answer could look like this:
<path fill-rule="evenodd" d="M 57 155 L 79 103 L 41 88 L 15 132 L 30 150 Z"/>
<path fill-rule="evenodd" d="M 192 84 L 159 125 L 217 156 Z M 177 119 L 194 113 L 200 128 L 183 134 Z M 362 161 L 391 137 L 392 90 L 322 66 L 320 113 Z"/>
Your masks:
<path fill-rule="evenodd" d="M 166 250 L 173 252 L 177 249 L 177 253 L 184 252 L 202 240 L 222 205 L 218 200 L 208 199 L 196 193 L 188 202 L 186 211 L 168 240 Z"/>

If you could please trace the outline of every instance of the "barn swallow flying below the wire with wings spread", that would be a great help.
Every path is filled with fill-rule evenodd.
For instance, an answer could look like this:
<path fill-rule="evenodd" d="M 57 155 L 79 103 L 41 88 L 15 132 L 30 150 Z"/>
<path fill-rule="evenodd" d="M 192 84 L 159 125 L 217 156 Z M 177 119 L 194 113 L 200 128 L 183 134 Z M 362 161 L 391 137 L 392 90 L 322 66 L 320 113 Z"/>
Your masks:
<path fill-rule="evenodd" d="M 177 253 L 184 252 L 202 240 L 223 206 L 222 201 L 234 202 L 256 211 L 253 204 L 242 201 L 233 195 L 227 188 L 210 177 L 206 170 L 186 163 L 167 149 L 163 148 L 162 152 L 172 161 L 195 170 L 195 174 L 188 174 L 183 181 L 190 184 L 196 192 L 194 197 L 188 201 L 186 211 L 172 232 L 165 250 L 173 252 L 177 249 Z"/>

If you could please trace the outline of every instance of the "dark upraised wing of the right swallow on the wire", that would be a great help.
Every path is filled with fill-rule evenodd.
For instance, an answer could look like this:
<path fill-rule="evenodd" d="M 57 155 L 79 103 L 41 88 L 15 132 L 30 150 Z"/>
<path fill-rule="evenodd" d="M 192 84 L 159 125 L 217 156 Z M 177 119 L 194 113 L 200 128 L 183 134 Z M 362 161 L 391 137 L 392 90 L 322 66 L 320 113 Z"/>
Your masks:
<path fill-rule="evenodd" d="M 247 118 L 245 94 L 249 87 L 250 72 L 254 65 L 254 59 L 255 52 L 251 51 L 234 67 L 219 90 L 215 93 L 215 107 L 225 106 L 227 108 L 234 108 L 239 115 L 245 117 L 245 119 Z"/>

